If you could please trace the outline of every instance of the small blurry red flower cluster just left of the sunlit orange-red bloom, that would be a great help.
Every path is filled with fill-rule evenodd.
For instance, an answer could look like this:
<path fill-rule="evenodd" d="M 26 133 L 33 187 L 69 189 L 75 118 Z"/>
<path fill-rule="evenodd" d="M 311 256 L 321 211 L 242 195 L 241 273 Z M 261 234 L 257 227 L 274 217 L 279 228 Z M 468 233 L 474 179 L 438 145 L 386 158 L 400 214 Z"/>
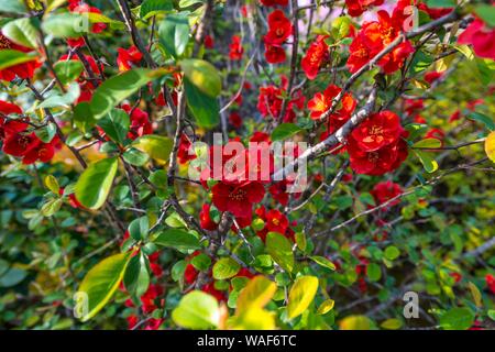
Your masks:
<path fill-rule="evenodd" d="M 282 76 L 280 87 L 270 85 L 266 87 L 260 87 L 260 95 L 257 97 L 257 110 L 261 114 L 277 119 L 282 113 L 282 106 L 284 103 L 284 96 L 287 94 L 288 80 L 287 77 Z M 306 98 L 302 96 L 302 91 L 298 90 L 293 94 L 293 99 L 287 103 L 287 108 L 283 122 L 294 122 L 296 119 L 295 108 L 301 110 L 305 107 Z"/>

